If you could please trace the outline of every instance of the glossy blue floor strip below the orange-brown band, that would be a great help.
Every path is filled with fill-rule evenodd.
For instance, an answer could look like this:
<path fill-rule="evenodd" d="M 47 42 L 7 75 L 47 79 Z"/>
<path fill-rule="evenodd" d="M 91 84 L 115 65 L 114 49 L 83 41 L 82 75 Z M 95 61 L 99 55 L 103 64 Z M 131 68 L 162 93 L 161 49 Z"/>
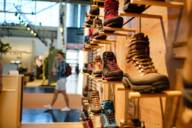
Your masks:
<path fill-rule="evenodd" d="M 22 123 L 79 122 L 80 110 L 23 109 Z"/>

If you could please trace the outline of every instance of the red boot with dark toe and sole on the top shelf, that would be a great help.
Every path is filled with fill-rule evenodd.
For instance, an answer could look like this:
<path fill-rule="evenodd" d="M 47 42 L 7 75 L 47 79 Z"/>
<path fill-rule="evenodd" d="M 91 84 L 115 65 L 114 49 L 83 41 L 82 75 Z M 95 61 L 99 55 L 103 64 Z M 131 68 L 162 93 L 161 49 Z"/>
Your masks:
<path fill-rule="evenodd" d="M 121 28 L 123 18 L 118 16 L 119 2 L 117 0 L 105 0 L 104 2 L 104 26 Z"/>

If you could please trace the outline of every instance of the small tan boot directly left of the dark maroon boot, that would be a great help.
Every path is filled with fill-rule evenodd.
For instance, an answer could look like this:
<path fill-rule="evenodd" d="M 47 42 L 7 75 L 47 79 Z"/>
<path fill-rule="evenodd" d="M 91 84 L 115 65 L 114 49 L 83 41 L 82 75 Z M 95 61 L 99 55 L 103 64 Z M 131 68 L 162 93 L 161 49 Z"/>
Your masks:
<path fill-rule="evenodd" d="M 102 70 L 103 70 L 103 65 L 102 65 L 101 57 L 96 56 L 94 60 L 94 66 L 93 66 L 93 75 L 95 77 L 101 77 L 103 72 Z"/>

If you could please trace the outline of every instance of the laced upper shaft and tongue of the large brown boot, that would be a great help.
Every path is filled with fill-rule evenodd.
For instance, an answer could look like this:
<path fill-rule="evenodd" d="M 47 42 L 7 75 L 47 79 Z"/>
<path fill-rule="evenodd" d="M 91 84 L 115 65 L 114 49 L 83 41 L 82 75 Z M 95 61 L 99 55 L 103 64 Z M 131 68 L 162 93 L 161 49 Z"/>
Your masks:
<path fill-rule="evenodd" d="M 157 72 L 150 58 L 147 36 L 145 37 L 143 33 L 134 35 L 128 49 L 127 61 L 133 63 L 139 72 L 143 75 Z"/>

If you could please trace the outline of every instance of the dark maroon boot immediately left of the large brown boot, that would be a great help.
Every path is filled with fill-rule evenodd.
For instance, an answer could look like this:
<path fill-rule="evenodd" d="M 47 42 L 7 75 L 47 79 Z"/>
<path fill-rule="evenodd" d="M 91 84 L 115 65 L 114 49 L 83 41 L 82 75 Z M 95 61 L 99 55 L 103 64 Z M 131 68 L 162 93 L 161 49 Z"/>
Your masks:
<path fill-rule="evenodd" d="M 117 60 L 113 52 L 106 51 L 103 53 L 103 79 L 109 81 L 121 81 L 123 71 L 117 65 Z"/>

